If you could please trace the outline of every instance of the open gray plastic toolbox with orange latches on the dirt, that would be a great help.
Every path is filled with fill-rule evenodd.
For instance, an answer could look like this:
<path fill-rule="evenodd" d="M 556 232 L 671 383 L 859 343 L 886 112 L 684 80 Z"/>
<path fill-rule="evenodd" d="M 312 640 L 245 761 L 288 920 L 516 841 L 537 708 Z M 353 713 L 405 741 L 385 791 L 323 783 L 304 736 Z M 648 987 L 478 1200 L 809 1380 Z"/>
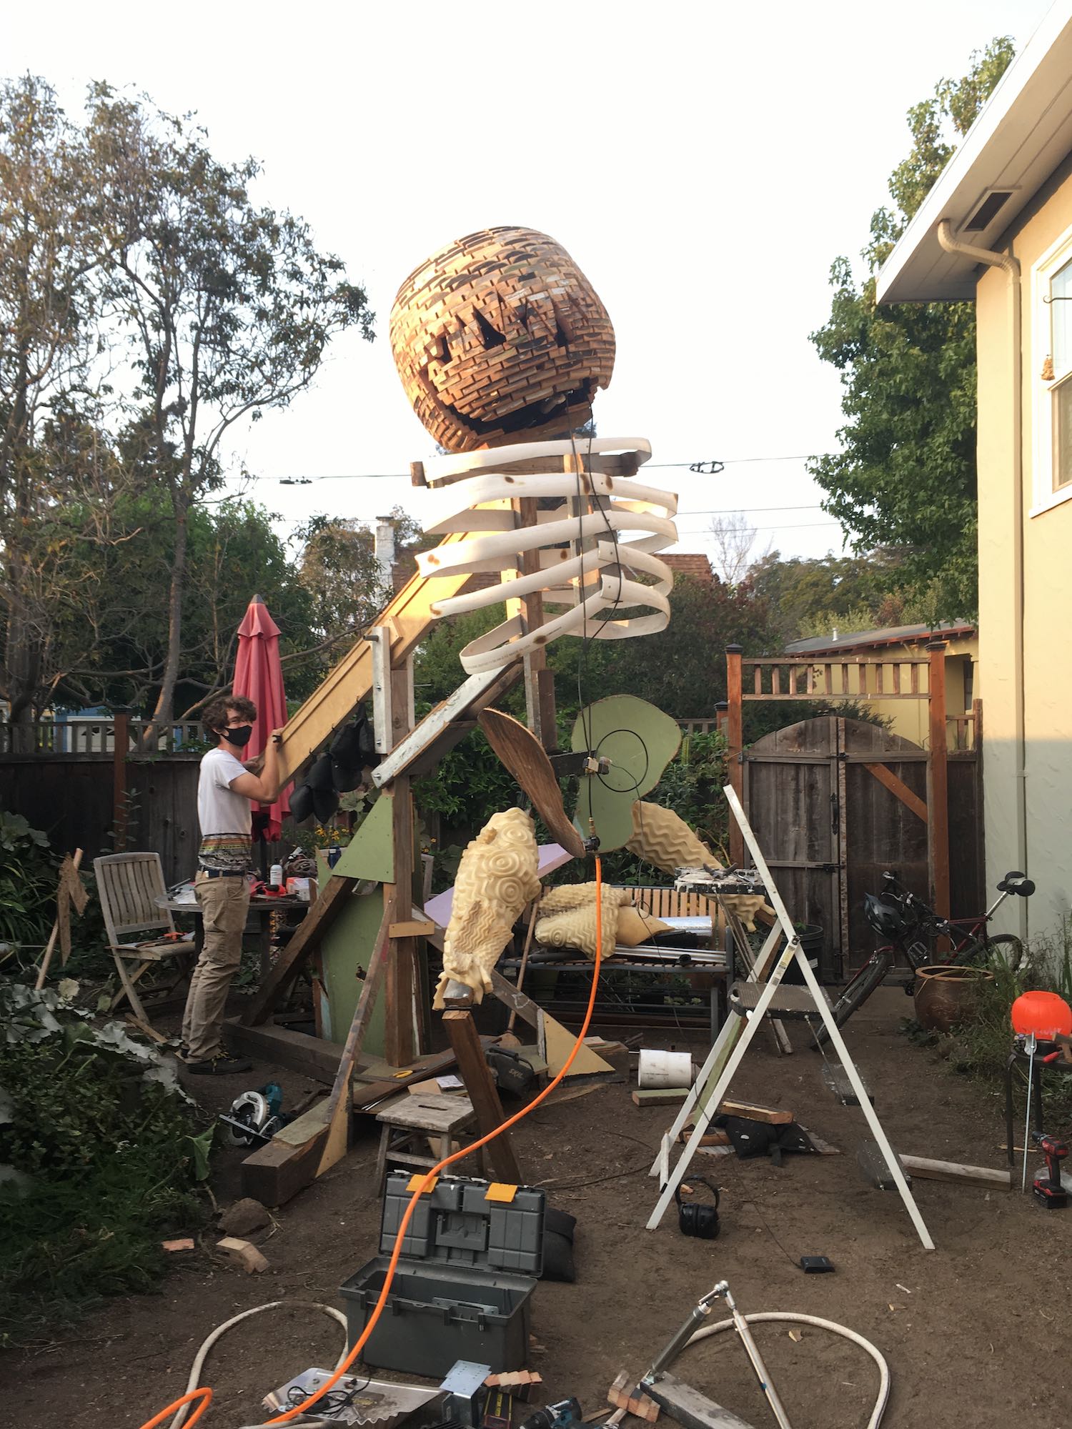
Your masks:
<path fill-rule="evenodd" d="M 342 1286 L 350 1346 L 383 1289 L 410 1179 L 410 1172 L 387 1176 L 382 1253 Z M 490 1365 L 492 1373 L 525 1368 L 546 1195 L 519 1186 L 512 1202 L 486 1200 L 487 1187 L 486 1180 L 442 1177 L 420 1198 L 383 1315 L 362 1352 L 366 1365 L 430 1378 L 459 1359 Z"/>

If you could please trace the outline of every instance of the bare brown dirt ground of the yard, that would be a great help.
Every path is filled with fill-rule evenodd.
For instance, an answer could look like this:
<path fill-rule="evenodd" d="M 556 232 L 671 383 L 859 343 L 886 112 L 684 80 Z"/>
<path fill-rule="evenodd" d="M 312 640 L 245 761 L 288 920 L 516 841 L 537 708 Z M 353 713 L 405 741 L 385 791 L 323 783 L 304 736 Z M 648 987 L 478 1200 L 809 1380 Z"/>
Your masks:
<path fill-rule="evenodd" d="M 908 1010 L 899 992 L 883 989 L 848 1036 L 893 1145 L 1003 1165 L 998 1099 L 900 1036 Z M 224 1103 L 270 1070 L 257 1066 L 253 1077 L 213 1085 L 212 1093 Z M 292 1079 L 289 1097 L 304 1085 Z M 735 1095 L 792 1109 L 843 1155 L 788 1156 L 782 1167 L 705 1156 L 703 1172 L 722 1187 L 720 1238 L 685 1239 L 673 1216 L 649 1232 L 655 1182 L 646 1173 L 670 1115 L 636 1107 L 629 1090 L 603 1085 L 547 1105 L 516 1133 L 526 1177 L 577 1218 L 576 1283 L 540 1282 L 533 1298 L 530 1368 L 543 1375 L 547 1399 L 576 1395 L 586 1412 L 599 1409 L 619 1369 L 643 1372 L 696 1298 L 726 1278 L 745 1312 L 800 1310 L 873 1340 L 892 1373 L 883 1425 L 1072 1425 L 1062 1312 L 1072 1208 L 1046 1213 L 1031 1196 L 916 1180 L 938 1245 L 925 1252 L 896 1192 L 863 1180 L 856 1147 L 866 1126 L 858 1109 L 825 1090 L 818 1055 L 802 1047 L 779 1059 L 760 1036 Z M 246 1276 L 199 1252 L 176 1268 L 163 1293 L 110 1303 L 77 1335 L 0 1360 L 3 1422 L 137 1429 L 184 1390 L 194 1352 L 219 1322 L 274 1299 L 340 1306 L 339 1285 L 376 1253 L 373 1142 L 369 1130 L 342 1165 L 280 1209 L 267 1239 L 253 1238 L 269 1258 L 267 1273 Z M 222 1202 L 236 1193 L 239 1157 L 223 1157 Z M 836 1272 L 803 1275 L 795 1263 L 803 1253 L 829 1256 Z M 799 1342 L 788 1329 L 758 1326 L 756 1338 L 795 1429 L 865 1425 L 878 1379 L 866 1355 L 818 1329 L 803 1329 Z M 262 1396 L 310 1365 L 333 1363 L 340 1333 L 307 1310 L 269 1312 L 230 1332 L 209 1359 L 216 1399 L 207 1423 L 259 1423 Z M 733 1336 L 686 1350 L 675 1372 L 748 1422 L 773 1422 Z"/>

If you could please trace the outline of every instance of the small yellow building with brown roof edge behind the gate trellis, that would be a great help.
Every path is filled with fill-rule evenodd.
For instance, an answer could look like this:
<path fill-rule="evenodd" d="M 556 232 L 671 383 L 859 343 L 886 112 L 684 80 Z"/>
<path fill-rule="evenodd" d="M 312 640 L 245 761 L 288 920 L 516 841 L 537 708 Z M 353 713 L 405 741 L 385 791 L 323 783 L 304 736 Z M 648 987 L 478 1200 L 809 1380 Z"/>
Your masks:
<path fill-rule="evenodd" d="M 972 622 L 948 620 L 939 626 L 886 626 L 882 630 L 832 630 L 829 636 L 792 640 L 785 647 L 785 653 L 815 656 L 815 689 L 825 692 L 826 674 L 823 660 L 846 657 L 866 660 L 870 656 L 893 659 L 898 654 L 903 654 L 906 659 L 926 659 L 926 647 L 930 640 L 945 640 L 946 644 L 946 746 L 951 750 L 972 749 L 972 706 L 979 699 L 976 674 L 979 634 Z M 883 700 L 876 677 L 878 672 L 873 666 L 860 666 L 859 679 L 868 689 L 868 704 L 870 704 L 876 714 L 882 714 L 889 720 L 892 735 L 900 735 L 902 739 L 910 739 L 913 745 L 926 747 L 930 743 L 930 712 L 926 700 Z M 920 687 L 926 689 L 926 677 L 920 680 Z M 835 697 L 839 689 L 840 686 L 835 676 L 832 692 Z"/>

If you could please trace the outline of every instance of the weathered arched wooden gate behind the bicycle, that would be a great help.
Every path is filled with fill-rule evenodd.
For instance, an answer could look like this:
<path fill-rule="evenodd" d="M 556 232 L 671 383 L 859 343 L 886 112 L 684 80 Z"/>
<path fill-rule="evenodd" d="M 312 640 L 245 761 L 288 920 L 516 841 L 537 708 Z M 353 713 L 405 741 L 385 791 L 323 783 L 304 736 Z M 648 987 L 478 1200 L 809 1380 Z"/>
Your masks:
<path fill-rule="evenodd" d="M 826 932 L 832 982 L 870 956 L 863 895 L 896 872 L 929 897 L 928 752 L 878 725 L 823 714 L 776 730 L 742 756 L 743 802 L 793 919 Z M 949 760 L 949 803 L 963 813 L 951 857 L 952 912 L 982 903 L 975 750 Z"/>

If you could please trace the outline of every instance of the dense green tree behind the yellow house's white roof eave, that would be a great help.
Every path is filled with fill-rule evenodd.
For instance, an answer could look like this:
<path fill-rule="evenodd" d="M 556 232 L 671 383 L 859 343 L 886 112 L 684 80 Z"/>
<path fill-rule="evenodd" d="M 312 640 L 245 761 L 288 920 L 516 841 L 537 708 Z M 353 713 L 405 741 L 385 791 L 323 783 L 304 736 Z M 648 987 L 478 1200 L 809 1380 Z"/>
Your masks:
<path fill-rule="evenodd" d="M 1012 60 L 1012 41 L 972 54 L 959 80 L 941 80 L 908 114 L 912 149 L 890 174 L 892 209 L 879 209 L 858 284 L 848 259 L 830 270 L 833 303 L 812 334 L 842 373 L 842 450 L 809 472 L 826 490 L 853 550 L 902 550 L 903 582 L 930 592 L 941 616 L 976 606 L 975 307 L 900 303 L 878 307 L 875 276 L 968 133 Z"/>

